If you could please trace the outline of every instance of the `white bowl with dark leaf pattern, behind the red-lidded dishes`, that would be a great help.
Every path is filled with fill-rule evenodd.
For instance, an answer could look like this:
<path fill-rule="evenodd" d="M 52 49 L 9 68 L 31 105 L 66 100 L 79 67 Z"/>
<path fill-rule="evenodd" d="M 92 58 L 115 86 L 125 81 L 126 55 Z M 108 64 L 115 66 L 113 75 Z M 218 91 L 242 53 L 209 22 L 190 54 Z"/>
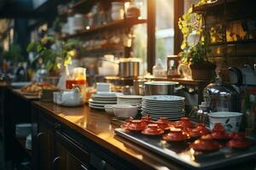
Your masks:
<path fill-rule="evenodd" d="M 242 113 L 218 111 L 208 114 L 210 121 L 210 128 L 214 127 L 215 123 L 221 123 L 227 132 L 237 132 L 241 125 Z"/>

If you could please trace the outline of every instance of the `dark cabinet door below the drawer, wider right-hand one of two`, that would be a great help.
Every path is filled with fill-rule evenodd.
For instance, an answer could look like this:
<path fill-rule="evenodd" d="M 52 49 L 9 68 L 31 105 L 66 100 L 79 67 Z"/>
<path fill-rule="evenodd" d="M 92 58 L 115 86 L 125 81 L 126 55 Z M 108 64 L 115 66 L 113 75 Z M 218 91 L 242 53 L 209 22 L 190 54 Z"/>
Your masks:
<path fill-rule="evenodd" d="M 56 170 L 89 169 L 89 153 L 75 144 L 67 135 L 56 132 L 55 145 L 55 159 L 58 159 L 54 164 Z"/>

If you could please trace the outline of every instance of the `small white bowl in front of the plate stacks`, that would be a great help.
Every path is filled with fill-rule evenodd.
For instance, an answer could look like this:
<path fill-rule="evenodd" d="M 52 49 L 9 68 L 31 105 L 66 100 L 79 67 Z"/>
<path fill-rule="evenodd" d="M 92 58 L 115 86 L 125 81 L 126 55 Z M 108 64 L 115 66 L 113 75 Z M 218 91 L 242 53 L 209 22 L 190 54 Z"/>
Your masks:
<path fill-rule="evenodd" d="M 135 117 L 137 115 L 137 106 L 134 105 L 113 105 L 114 116 L 120 118 Z"/>

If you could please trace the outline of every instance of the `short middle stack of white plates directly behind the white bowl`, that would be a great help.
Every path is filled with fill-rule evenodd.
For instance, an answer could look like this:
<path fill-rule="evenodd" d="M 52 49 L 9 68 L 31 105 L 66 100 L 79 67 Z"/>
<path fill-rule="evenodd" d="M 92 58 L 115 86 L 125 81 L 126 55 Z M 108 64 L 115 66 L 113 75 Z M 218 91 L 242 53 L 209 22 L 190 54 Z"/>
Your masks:
<path fill-rule="evenodd" d="M 140 95 L 120 95 L 118 97 L 118 105 L 138 105 L 141 106 L 143 96 Z"/>

